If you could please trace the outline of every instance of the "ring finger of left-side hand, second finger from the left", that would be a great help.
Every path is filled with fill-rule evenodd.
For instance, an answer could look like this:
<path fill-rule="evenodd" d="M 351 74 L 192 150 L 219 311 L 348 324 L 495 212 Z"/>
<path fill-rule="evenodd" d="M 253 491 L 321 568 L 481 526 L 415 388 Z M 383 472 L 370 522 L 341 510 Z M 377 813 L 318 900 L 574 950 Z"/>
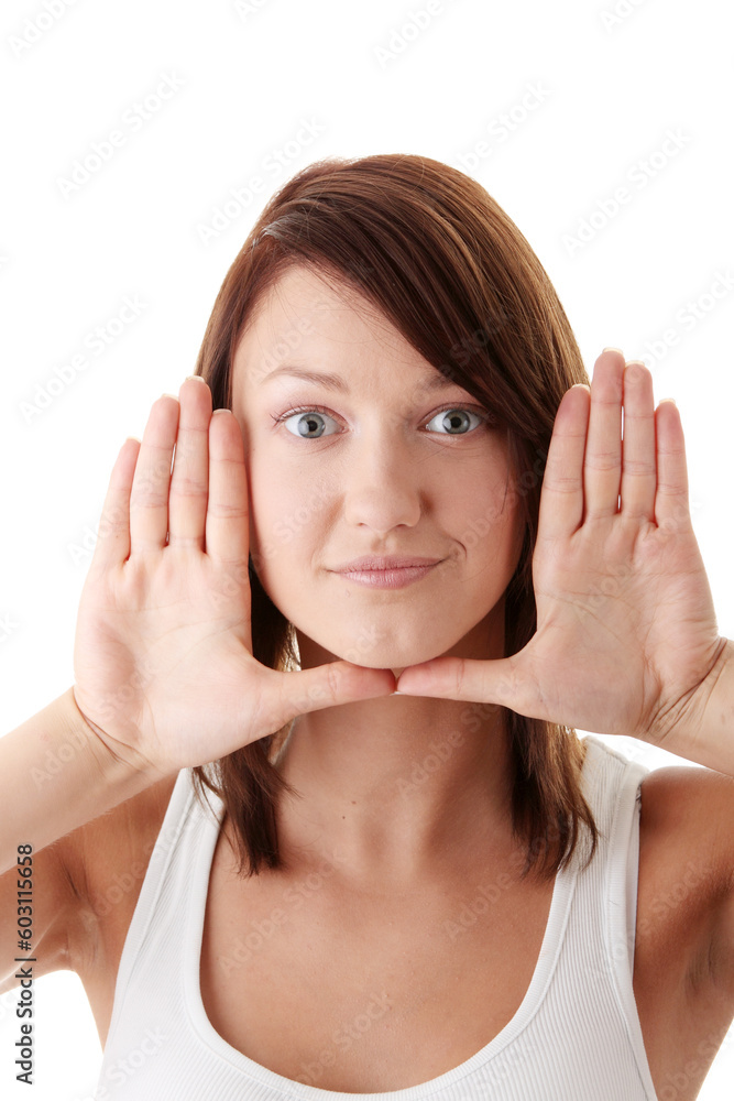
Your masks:
<path fill-rule="evenodd" d="M 178 428 L 178 400 L 163 394 L 153 403 L 140 446 L 130 493 L 130 553 L 161 550 L 168 532 L 171 461 Z"/>

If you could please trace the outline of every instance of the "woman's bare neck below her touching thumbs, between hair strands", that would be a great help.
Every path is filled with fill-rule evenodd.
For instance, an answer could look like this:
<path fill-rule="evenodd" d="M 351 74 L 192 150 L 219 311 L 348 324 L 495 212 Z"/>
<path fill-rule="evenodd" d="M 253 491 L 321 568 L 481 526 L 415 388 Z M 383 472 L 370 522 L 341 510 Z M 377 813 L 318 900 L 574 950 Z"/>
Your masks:
<path fill-rule="evenodd" d="M 305 651 L 304 667 L 326 659 Z M 324 708 L 294 721 L 275 766 L 299 793 L 278 806 L 289 866 L 327 860 L 379 890 L 456 879 L 515 848 L 499 706 L 387 696 Z"/>

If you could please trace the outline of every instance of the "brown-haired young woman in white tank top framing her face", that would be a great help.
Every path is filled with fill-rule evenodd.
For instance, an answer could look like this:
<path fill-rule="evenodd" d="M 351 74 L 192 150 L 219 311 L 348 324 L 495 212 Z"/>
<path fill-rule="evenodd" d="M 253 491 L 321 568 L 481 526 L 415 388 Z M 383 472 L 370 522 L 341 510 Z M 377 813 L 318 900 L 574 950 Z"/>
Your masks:
<path fill-rule="evenodd" d="M 74 686 L 0 741 L 4 989 L 24 842 L 98 1099 L 692 1099 L 734 1014 L 733 650 L 649 372 L 589 383 L 471 178 L 313 164 L 120 450 Z"/>

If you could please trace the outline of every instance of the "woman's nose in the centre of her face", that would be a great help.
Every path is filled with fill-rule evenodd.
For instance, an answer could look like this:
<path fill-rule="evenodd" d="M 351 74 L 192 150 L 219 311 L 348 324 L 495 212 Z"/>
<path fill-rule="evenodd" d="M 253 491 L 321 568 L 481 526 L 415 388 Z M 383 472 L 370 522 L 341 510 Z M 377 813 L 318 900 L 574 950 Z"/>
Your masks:
<path fill-rule="evenodd" d="M 342 471 L 344 519 L 379 535 L 401 525 L 415 526 L 426 500 L 420 464 L 405 440 L 382 429 L 363 432 L 349 449 Z"/>

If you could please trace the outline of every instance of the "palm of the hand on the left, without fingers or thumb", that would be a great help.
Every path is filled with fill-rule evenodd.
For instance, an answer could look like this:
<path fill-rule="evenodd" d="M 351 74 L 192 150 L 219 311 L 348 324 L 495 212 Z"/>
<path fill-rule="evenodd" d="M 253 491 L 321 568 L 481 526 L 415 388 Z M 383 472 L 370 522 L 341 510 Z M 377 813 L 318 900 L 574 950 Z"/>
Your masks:
<path fill-rule="evenodd" d="M 249 740 L 242 704 L 248 674 L 255 679 L 250 651 L 249 586 L 233 585 L 195 548 L 166 547 L 117 575 L 92 570 L 85 582 L 75 641 L 79 702 L 118 737 L 149 728 L 156 756 L 164 746 L 155 742 L 172 730 L 183 756 L 195 756 L 216 713 L 239 715 Z"/>

